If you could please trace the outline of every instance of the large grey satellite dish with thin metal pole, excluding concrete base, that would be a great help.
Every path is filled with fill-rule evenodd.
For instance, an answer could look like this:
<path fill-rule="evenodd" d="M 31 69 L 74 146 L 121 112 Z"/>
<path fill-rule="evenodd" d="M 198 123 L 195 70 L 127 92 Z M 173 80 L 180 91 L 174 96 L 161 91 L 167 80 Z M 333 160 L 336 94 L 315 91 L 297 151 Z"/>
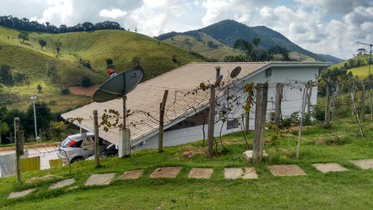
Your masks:
<path fill-rule="evenodd" d="M 109 72 L 108 72 L 109 73 Z M 110 72 L 115 74 L 114 71 Z M 126 128 L 126 99 L 127 93 L 135 89 L 144 76 L 141 69 L 131 69 L 106 80 L 93 94 L 93 101 L 107 102 L 116 98 L 123 98 L 123 128 Z"/>

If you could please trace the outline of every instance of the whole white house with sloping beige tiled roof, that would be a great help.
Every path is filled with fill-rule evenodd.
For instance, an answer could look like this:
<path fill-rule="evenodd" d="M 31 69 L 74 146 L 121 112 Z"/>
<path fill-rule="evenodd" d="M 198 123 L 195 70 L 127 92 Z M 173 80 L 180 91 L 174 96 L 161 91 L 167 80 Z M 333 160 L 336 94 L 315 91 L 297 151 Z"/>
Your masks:
<path fill-rule="evenodd" d="M 219 66 L 220 68 L 215 68 Z M 214 84 L 216 71 L 223 75 L 222 85 L 216 88 L 217 109 L 229 106 L 232 109 L 227 115 L 228 119 L 218 121 L 216 114 L 214 136 L 241 131 L 243 109 L 237 102 L 232 103 L 226 99 L 227 95 L 235 95 L 240 102 L 247 97 L 242 92 L 242 86 L 247 83 L 269 83 L 267 115 L 274 111 L 275 84 L 285 83 L 281 114 L 283 117 L 300 111 L 302 93 L 300 82 L 315 80 L 321 68 L 327 68 L 331 63 L 326 62 L 241 62 L 241 63 L 207 63 L 193 62 L 175 70 L 169 71 L 151 80 L 138 84 L 137 88 L 127 95 L 127 110 L 130 109 L 127 120 L 131 135 L 131 146 L 137 151 L 140 149 L 157 148 L 159 109 L 164 90 L 169 90 L 164 116 L 164 146 L 178 145 L 186 142 L 202 140 L 204 133 L 207 138 L 207 121 L 209 112 L 209 90 L 197 90 L 201 83 Z M 235 67 L 241 67 L 241 72 L 231 78 L 230 73 Z M 300 88 L 296 88 L 295 86 Z M 304 85 L 303 85 L 304 88 Z M 195 93 L 197 91 L 197 93 Z M 314 87 L 311 104 L 317 102 L 317 87 Z M 80 117 L 83 120 L 74 124 L 81 131 L 93 131 L 93 111 L 97 109 L 99 122 L 104 110 L 114 109 L 123 116 L 122 99 L 115 99 L 104 103 L 91 103 L 81 108 L 62 114 L 65 119 Z M 216 111 L 216 112 L 219 112 Z M 255 108 L 251 108 L 249 126 L 254 125 Z M 206 117 L 206 118 L 205 118 Z M 236 119 L 236 120 L 235 120 Z M 121 119 L 120 119 L 121 120 Z M 114 120 L 113 120 L 114 121 Z M 112 122 L 113 123 L 113 122 Z M 203 129 L 204 128 L 204 129 Z M 119 139 L 119 128 L 110 128 L 107 132 L 100 127 L 100 137 L 109 142 L 116 143 Z"/>

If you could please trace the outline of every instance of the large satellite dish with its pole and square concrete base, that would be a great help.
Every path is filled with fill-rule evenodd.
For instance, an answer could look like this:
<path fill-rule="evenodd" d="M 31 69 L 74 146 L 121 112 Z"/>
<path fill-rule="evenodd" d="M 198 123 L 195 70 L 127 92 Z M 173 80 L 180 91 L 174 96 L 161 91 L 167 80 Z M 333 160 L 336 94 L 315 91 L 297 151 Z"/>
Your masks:
<path fill-rule="evenodd" d="M 135 89 L 144 76 L 141 69 L 131 69 L 118 75 L 114 70 L 108 70 L 110 79 L 101 84 L 93 94 L 93 101 L 107 102 L 113 99 L 123 99 L 123 129 L 119 130 L 119 157 L 129 156 L 131 154 L 131 142 L 129 129 L 126 128 L 126 99 L 127 93 Z"/>

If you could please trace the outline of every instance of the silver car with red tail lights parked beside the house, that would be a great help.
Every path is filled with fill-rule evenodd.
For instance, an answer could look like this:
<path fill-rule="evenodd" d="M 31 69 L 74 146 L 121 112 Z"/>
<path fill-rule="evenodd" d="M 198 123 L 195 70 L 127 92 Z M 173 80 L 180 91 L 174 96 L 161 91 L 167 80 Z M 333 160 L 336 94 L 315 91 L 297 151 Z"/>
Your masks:
<path fill-rule="evenodd" d="M 83 142 L 93 142 L 94 133 L 85 132 L 70 135 L 66 137 L 59 145 L 58 157 L 62 158 L 63 164 L 74 163 L 76 161 L 85 160 L 91 155 L 94 155 L 94 144 L 82 146 Z M 109 146 L 102 138 L 99 138 L 100 151 Z"/>

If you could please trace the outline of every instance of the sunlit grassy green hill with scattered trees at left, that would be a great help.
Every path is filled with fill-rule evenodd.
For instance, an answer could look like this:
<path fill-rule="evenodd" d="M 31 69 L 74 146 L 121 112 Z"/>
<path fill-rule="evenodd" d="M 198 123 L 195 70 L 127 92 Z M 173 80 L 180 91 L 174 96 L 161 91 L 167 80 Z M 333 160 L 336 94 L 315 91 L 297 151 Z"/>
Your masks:
<path fill-rule="evenodd" d="M 27 32 L 29 41 L 25 44 L 17 39 L 21 31 L 0 27 L 0 63 L 10 65 L 12 72 L 25 72 L 29 85 L 3 84 L 0 99 L 12 99 L 13 107 L 25 109 L 29 105 L 29 96 L 37 92 L 36 86 L 41 83 L 43 94 L 40 100 L 56 101 L 53 110 L 73 108 L 77 104 L 89 102 L 85 96 L 62 95 L 60 87 L 79 85 L 81 78 L 87 75 L 93 84 L 101 84 L 109 78 L 106 71 L 106 58 L 113 59 L 113 68 L 117 73 L 134 68 L 132 58 L 141 58 L 141 68 L 144 69 L 143 80 L 156 77 L 189 62 L 206 59 L 194 52 L 181 47 L 123 30 L 100 30 L 89 32 L 74 32 L 49 34 Z M 41 50 L 38 41 L 44 39 L 47 46 Z M 62 49 L 56 56 L 53 43 L 60 41 Z M 176 55 L 176 61 L 173 56 Z M 79 59 L 90 61 L 92 68 L 85 68 Z M 46 64 L 53 60 L 57 64 L 58 80 L 51 81 L 46 76 Z M 22 91 L 20 91 L 22 90 Z M 62 104 L 59 104 L 61 102 Z"/>

